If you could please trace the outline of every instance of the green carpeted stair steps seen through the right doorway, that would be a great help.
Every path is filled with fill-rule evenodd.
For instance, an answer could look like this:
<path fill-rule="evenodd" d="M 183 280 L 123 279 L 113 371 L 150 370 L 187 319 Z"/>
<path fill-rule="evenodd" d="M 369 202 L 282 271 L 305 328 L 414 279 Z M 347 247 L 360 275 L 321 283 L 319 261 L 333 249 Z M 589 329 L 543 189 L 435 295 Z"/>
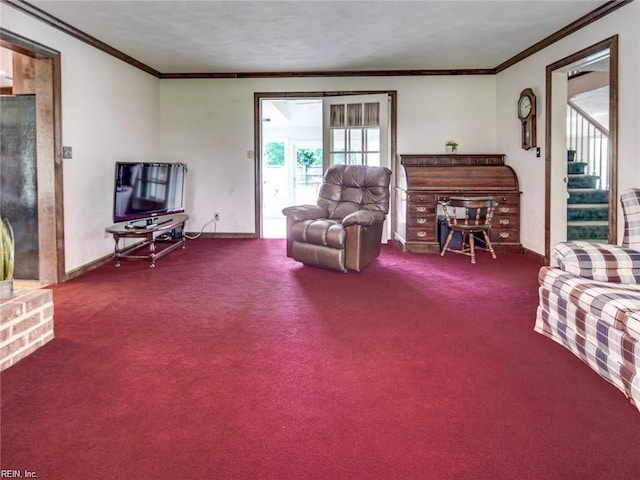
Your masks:
<path fill-rule="evenodd" d="M 575 161 L 575 154 L 575 150 L 567 153 L 567 240 L 606 243 L 609 237 L 609 191 L 599 188 L 600 176 L 586 173 L 588 162 Z"/>

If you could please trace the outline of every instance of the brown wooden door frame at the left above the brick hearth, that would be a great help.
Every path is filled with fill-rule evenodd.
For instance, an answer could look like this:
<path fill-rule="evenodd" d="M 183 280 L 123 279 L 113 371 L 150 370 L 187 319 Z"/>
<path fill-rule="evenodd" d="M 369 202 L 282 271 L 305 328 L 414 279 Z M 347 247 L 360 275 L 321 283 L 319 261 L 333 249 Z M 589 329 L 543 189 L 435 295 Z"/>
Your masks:
<path fill-rule="evenodd" d="M 0 28 L 0 46 L 34 59 L 38 181 L 39 283 L 67 280 L 62 179 L 60 52 Z"/>

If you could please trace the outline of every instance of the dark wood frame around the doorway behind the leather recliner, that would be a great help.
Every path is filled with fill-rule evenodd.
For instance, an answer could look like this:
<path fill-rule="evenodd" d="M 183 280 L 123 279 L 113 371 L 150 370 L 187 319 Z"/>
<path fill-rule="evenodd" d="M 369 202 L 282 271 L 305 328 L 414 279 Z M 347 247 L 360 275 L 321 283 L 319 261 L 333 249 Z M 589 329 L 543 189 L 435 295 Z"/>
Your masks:
<path fill-rule="evenodd" d="M 397 90 L 345 90 L 345 91 L 331 91 L 331 92 L 255 92 L 253 94 L 253 130 L 254 130 L 254 190 L 255 190 L 255 200 L 254 200 L 254 208 L 255 208 L 255 230 L 254 237 L 261 238 L 262 237 L 262 199 L 263 199 L 263 189 L 262 189 L 262 111 L 261 104 L 262 99 L 288 99 L 288 98 L 306 98 L 306 97 L 314 97 L 314 98 L 323 98 L 323 97 L 335 97 L 335 96 L 346 96 L 346 95 L 371 95 L 371 94 L 386 94 L 389 96 L 389 114 L 390 114 L 390 124 L 389 124 L 389 163 L 391 165 L 395 165 L 395 158 L 397 155 L 397 121 L 398 121 L 398 111 L 397 111 Z M 393 169 L 392 169 L 393 170 Z M 392 183 L 391 185 L 395 185 L 393 178 L 395 177 L 395 172 L 392 173 Z M 391 226 L 395 223 L 395 215 L 394 212 L 394 195 L 391 195 L 391 205 L 389 208 Z"/>

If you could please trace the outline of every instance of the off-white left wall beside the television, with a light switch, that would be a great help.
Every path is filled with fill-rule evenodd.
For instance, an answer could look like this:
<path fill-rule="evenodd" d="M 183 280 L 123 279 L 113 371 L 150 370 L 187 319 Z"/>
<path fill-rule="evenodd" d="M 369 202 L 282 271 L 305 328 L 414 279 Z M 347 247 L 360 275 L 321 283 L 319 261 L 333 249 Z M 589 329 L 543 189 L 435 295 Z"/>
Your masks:
<path fill-rule="evenodd" d="M 114 165 L 156 160 L 160 80 L 14 8 L 0 4 L 2 28 L 61 52 L 64 232 L 67 272 L 113 251 Z"/>

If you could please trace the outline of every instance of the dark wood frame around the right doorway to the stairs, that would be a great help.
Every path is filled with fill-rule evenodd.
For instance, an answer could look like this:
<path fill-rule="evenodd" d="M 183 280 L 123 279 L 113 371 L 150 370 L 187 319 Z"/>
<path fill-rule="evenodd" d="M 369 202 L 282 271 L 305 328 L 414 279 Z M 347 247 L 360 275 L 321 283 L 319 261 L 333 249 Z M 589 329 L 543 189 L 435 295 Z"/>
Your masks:
<path fill-rule="evenodd" d="M 552 190 L 552 92 L 553 73 L 597 52 L 609 49 L 609 243 L 618 238 L 618 36 L 614 35 L 573 53 L 546 67 L 545 79 L 545 263 L 551 262 L 551 190 Z M 565 149 L 566 150 L 566 149 Z M 566 161 L 566 155 L 563 157 Z"/>

